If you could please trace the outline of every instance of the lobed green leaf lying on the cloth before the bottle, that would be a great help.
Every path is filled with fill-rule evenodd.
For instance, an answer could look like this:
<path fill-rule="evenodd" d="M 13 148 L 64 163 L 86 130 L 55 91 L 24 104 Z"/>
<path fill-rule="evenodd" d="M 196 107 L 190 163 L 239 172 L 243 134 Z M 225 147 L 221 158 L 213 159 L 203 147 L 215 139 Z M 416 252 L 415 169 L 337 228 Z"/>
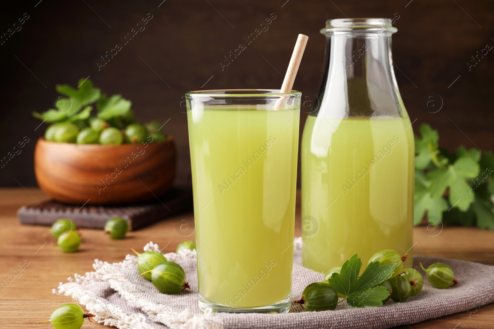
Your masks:
<path fill-rule="evenodd" d="M 367 265 L 359 277 L 362 261 L 357 254 L 345 261 L 340 273 L 333 273 L 329 284 L 346 296 L 348 305 L 353 307 L 379 306 L 389 296 L 384 287 L 375 287 L 393 275 L 394 264 L 381 265 L 378 261 Z M 381 299 L 379 299 L 381 298 Z"/>

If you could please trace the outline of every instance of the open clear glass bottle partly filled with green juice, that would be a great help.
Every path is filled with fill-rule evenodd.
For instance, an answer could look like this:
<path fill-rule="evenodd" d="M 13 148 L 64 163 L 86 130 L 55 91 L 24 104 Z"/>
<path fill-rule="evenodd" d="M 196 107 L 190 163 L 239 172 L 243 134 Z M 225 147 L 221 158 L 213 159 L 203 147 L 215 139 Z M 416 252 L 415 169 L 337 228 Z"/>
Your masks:
<path fill-rule="evenodd" d="M 333 19 L 318 101 L 302 137 L 303 264 L 410 254 L 414 142 L 393 71 L 390 19 Z"/>

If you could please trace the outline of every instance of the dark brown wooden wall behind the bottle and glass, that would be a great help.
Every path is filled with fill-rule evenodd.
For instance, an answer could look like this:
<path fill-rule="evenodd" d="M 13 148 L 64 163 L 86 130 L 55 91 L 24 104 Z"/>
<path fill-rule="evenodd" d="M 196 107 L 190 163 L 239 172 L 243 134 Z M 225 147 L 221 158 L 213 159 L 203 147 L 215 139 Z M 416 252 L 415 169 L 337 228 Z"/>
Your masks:
<path fill-rule="evenodd" d="M 30 0 L 2 4 L 0 34 L 24 13 L 29 19 L 0 45 L 0 157 L 25 136 L 22 153 L 0 168 L 1 186 L 35 186 L 33 152 L 46 125 L 32 111 L 52 107 L 56 83 L 96 86 L 132 101 L 136 117 L 158 119 L 175 137 L 179 176 L 190 171 L 185 92 L 213 88 L 279 88 L 298 33 L 309 36 L 294 89 L 308 112 L 320 83 L 325 21 L 344 17 L 398 17 L 393 58 L 400 91 L 416 131 L 421 122 L 439 130 L 440 144 L 493 149 L 494 50 L 469 71 L 471 56 L 494 45 L 490 0 Z M 98 71 L 100 57 L 153 18 Z M 276 19 L 222 71 L 230 50 L 245 43 L 275 13 Z M 264 57 L 264 58 L 263 58 Z M 280 74 L 281 73 L 281 74 Z M 459 78 L 458 78 L 459 76 Z M 455 80 L 457 79 L 457 80 Z M 207 81 L 207 83 L 206 83 Z M 455 81 L 453 83 L 453 81 Z M 453 83 L 453 84 L 452 84 Z M 435 93 L 437 107 L 423 100 Z M 438 97 L 439 95 L 440 97 Z M 430 113 L 440 107 L 437 113 Z M 307 113 L 302 112 L 301 127 Z"/>

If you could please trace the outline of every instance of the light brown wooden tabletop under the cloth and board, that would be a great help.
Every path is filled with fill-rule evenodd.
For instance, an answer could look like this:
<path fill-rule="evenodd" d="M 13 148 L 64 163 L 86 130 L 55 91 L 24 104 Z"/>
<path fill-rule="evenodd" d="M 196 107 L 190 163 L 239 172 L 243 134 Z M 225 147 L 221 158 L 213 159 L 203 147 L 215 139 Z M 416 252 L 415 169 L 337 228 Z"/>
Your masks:
<path fill-rule="evenodd" d="M 192 219 L 193 214 L 189 212 L 130 232 L 124 240 L 111 240 L 100 230 L 81 229 L 83 248 L 77 253 L 65 254 L 51 235 L 43 237 L 48 229 L 46 226 L 21 225 L 17 221 L 16 211 L 21 205 L 45 199 L 46 196 L 37 188 L 0 189 L 0 281 L 12 274 L 23 261 L 29 262 L 20 276 L 17 274 L 17 278 L 0 292 L 2 328 L 51 328 L 49 324 L 36 324 L 36 321 L 49 320 L 56 307 L 71 302 L 70 298 L 53 294 L 51 290 L 74 273 L 91 271 L 95 258 L 121 261 L 130 253 L 130 248 L 142 249 L 149 241 L 166 245 L 163 252 L 168 253 L 174 251 L 181 241 L 194 239 L 194 235 L 183 237 L 175 229 L 176 223 Z M 297 236 L 300 235 L 299 207 L 296 221 Z M 439 230 L 429 232 L 425 227 L 415 228 L 415 254 L 494 265 L 494 231 L 447 227 L 438 233 Z M 92 323 L 84 328 L 103 328 L 103 325 Z M 399 328 L 494 328 L 494 304 Z"/>

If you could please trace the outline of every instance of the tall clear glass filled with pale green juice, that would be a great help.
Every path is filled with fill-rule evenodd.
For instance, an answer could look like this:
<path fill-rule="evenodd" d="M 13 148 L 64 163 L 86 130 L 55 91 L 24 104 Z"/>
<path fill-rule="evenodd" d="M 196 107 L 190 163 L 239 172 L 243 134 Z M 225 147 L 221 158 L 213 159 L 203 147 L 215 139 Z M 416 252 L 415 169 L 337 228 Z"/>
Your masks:
<path fill-rule="evenodd" d="M 186 94 L 203 311 L 290 308 L 300 97 Z"/>

